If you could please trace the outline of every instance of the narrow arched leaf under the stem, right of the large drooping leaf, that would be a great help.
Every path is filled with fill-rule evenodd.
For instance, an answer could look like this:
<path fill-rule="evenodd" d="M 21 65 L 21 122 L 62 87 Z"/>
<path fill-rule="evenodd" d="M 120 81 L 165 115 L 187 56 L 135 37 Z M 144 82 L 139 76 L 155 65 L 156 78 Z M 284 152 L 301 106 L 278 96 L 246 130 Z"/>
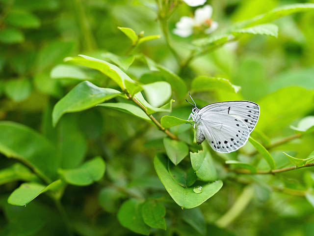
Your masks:
<path fill-rule="evenodd" d="M 147 121 L 151 121 L 151 119 L 145 114 L 145 112 L 143 112 L 142 109 L 130 103 L 123 103 L 123 102 L 109 103 L 108 102 L 108 103 L 98 104 L 97 106 L 108 107 L 111 109 L 129 113 L 131 115 L 145 119 Z"/>

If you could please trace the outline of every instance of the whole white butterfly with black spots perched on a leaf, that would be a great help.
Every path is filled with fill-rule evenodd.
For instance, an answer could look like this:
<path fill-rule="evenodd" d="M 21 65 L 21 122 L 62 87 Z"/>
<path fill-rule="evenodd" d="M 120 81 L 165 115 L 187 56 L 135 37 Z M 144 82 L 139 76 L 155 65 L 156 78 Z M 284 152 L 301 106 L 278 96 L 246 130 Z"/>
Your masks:
<path fill-rule="evenodd" d="M 216 102 L 198 109 L 194 106 L 192 118 L 196 129 L 195 139 L 201 144 L 205 139 L 217 152 L 229 153 L 245 145 L 260 117 L 260 106 L 250 101 Z"/>

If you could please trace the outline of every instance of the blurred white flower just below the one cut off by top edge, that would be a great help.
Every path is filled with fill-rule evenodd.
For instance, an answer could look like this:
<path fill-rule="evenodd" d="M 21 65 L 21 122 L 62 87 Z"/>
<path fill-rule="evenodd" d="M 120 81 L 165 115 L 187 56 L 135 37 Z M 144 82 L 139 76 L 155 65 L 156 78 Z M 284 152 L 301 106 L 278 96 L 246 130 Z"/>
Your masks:
<path fill-rule="evenodd" d="M 206 34 L 209 34 L 218 28 L 218 23 L 211 20 L 211 15 L 212 7 L 210 5 L 198 8 L 195 11 L 194 18 L 187 16 L 181 17 L 173 33 L 181 37 L 188 37 L 193 33 L 193 29 L 201 29 Z"/>

